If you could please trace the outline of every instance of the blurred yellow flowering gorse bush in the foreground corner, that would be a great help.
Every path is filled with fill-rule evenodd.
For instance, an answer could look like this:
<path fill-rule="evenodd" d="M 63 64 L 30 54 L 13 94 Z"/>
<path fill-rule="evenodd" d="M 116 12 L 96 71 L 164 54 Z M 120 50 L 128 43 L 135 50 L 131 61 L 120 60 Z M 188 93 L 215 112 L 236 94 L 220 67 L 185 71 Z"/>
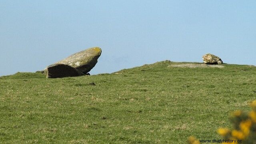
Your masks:
<path fill-rule="evenodd" d="M 219 128 L 220 134 L 226 140 L 242 140 L 244 144 L 256 144 L 256 100 L 250 105 L 252 110 L 250 112 L 242 112 L 237 110 L 231 116 L 231 122 L 234 125 L 233 130 L 228 128 Z M 190 136 L 188 138 L 189 144 L 200 144 L 199 140 Z M 224 142 L 222 144 L 231 144 Z"/>

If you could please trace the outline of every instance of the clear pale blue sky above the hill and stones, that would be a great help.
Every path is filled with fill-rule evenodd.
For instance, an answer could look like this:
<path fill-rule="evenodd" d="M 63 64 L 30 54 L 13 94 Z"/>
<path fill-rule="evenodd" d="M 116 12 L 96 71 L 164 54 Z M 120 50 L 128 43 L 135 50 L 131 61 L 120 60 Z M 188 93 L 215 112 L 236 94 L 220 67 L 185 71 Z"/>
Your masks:
<path fill-rule="evenodd" d="M 256 65 L 256 0 L 0 0 L 0 76 L 94 46 L 91 74 L 206 53 Z"/>

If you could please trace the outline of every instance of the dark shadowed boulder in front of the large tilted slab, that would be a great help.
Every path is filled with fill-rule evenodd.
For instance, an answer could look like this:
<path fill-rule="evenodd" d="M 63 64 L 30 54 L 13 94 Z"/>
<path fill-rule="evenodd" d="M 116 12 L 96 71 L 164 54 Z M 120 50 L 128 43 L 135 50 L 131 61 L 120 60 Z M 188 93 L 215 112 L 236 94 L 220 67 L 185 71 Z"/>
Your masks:
<path fill-rule="evenodd" d="M 64 78 L 82 75 L 84 73 L 67 64 L 52 64 L 47 67 L 46 78 Z"/>

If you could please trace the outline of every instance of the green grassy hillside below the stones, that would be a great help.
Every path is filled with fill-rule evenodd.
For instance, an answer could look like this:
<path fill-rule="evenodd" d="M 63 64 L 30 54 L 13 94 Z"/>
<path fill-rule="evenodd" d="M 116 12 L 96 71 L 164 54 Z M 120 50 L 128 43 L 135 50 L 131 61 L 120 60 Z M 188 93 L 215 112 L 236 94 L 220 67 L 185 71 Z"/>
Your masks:
<path fill-rule="evenodd" d="M 186 62 L 187 63 L 187 62 Z M 0 143 L 184 144 L 220 139 L 234 110 L 256 99 L 256 67 L 156 62 L 113 74 L 0 77 Z M 197 63 L 191 63 L 197 64 Z M 94 83 L 90 84 L 90 83 Z"/>

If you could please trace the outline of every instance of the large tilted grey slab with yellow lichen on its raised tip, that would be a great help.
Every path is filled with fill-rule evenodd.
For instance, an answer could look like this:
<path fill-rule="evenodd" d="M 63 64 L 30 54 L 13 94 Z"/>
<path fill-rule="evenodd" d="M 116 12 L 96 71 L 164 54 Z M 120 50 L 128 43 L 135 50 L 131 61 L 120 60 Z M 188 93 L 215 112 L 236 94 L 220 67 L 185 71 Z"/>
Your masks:
<path fill-rule="evenodd" d="M 96 65 L 100 57 L 101 49 L 99 47 L 88 48 L 77 52 L 67 58 L 56 62 L 55 64 L 67 64 L 86 74 Z"/>

